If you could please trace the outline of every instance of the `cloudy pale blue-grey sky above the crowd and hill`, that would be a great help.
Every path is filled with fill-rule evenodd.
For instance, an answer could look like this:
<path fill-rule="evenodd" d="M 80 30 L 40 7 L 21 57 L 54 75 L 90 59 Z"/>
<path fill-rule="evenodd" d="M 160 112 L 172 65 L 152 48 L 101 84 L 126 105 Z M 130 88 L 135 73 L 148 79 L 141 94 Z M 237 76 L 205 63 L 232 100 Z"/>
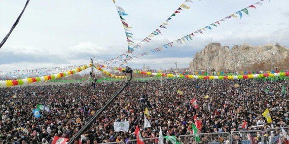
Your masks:
<path fill-rule="evenodd" d="M 132 26 L 135 43 L 152 33 L 167 20 L 185 0 L 116 0 L 129 16 L 124 16 Z M 163 35 L 152 37 L 134 52 L 147 52 L 219 21 L 256 0 L 214 0 L 186 3 L 189 10 L 172 17 L 166 26 L 159 28 Z M 0 2 L 0 39 L 9 32 L 22 11 L 26 1 L 3 0 Z M 262 1 L 257 10 L 248 8 L 249 16 L 243 13 L 240 19 L 226 19 L 218 28 L 212 27 L 204 34 L 182 45 L 175 43 L 163 52 L 152 53 L 129 61 L 128 66 L 152 69 L 189 67 L 196 52 L 210 42 L 222 45 L 249 43 L 260 45 L 279 42 L 289 47 L 289 1 Z M 0 49 L 0 71 L 52 68 L 81 65 L 112 59 L 127 51 L 125 31 L 113 1 L 30 1 L 19 24 Z M 118 66 L 119 64 L 111 65 Z"/>

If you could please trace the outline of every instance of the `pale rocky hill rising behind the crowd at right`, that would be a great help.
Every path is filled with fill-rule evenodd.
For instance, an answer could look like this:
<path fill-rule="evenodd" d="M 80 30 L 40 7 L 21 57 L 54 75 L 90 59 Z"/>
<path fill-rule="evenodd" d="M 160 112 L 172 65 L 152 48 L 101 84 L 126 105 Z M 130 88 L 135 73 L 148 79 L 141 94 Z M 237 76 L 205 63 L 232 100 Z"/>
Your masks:
<path fill-rule="evenodd" d="M 274 55 L 272 55 L 274 53 Z M 264 45 L 234 45 L 221 46 L 221 43 L 210 43 L 205 48 L 195 54 L 193 61 L 190 62 L 190 70 L 273 70 L 289 69 L 289 49 L 280 46 L 278 43 Z"/>

